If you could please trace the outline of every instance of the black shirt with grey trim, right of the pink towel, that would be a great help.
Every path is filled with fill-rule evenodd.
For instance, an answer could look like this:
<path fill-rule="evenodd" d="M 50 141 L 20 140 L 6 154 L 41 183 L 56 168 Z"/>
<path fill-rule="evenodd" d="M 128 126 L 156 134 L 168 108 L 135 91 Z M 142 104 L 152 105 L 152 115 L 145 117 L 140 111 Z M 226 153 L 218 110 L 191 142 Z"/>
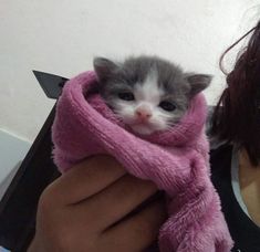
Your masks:
<path fill-rule="evenodd" d="M 260 228 L 243 212 L 231 186 L 232 146 L 223 145 L 210 154 L 211 179 L 235 241 L 232 251 L 260 252 Z"/>

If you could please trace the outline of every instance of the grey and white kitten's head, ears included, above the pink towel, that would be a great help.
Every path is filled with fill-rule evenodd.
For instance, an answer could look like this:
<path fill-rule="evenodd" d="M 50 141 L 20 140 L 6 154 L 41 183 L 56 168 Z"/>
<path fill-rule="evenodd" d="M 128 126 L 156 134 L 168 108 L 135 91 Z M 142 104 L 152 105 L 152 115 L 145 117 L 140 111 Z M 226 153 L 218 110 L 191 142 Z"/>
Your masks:
<path fill-rule="evenodd" d="M 129 57 L 123 63 L 96 57 L 94 69 L 106 104 L 141 135 L 178 123 L 190 99 L 211 81 L 210 75 L 184 73 L 156 56 Z"/>

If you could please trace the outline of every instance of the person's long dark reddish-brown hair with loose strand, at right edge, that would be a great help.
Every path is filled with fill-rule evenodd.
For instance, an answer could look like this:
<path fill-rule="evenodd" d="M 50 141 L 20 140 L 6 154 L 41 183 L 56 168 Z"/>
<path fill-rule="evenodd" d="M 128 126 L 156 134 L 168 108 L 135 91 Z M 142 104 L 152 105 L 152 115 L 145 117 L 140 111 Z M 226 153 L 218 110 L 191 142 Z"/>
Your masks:
<path fill-rule="evenodd" d="M 249 33 L 252 35 L 247 46 L 239 53 L 233 70 L 226 74 L 225 55 Z M 220 69 L 227 75 L 227 87 L 214 112 L 211 134 L 246 148 L 251 164 L 257 166 L 260 164 L 260 21 L 225 51 Z"/>

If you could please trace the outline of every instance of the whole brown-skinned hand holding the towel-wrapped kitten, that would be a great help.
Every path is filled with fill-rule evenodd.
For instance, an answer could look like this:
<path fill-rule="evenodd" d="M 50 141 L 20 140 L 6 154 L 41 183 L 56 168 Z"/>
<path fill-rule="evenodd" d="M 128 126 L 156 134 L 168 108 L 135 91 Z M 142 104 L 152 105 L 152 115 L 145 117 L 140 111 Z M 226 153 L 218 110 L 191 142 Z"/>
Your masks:
<path fill-rule="evenodd" d="M 166 219 L 163 197 L 124 217 L 156 191 L 154 183 L 126 174 L 112 157 L 89 158 L 42 193 L 28 251 L 145 251 Z"/>

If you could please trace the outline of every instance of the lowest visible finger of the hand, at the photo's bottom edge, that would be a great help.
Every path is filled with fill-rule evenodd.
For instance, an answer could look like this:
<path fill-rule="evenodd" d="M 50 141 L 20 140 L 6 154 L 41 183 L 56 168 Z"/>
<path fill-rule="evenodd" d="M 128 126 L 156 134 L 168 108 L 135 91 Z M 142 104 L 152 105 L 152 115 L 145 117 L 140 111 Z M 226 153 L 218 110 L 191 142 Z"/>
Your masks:
<path fill-rule="evenodd" d="M 103 233 L 103 244 L 118 248 L 117 251 L 133 252 L 148 248 L 158 237 L 162 223 L 166 219 L 164 200 L 148 204 L 142 212 L 119 222 Z M 127 244 L 127 246 L 126 246 Z"/>

